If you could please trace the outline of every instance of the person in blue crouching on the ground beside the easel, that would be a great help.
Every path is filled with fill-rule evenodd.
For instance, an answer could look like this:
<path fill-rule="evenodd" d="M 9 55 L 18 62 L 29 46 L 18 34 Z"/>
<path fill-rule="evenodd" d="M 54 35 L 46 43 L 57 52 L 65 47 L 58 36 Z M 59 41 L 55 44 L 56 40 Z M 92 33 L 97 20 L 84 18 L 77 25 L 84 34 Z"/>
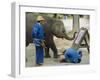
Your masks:
<path fill-rule="evenodd" d="M 69 48 L 63 52 L 60 62 L 69 62 L 69 63 L 80 63 L 82 58 L 82 51 L 77 51 L 73 48 Z"/>

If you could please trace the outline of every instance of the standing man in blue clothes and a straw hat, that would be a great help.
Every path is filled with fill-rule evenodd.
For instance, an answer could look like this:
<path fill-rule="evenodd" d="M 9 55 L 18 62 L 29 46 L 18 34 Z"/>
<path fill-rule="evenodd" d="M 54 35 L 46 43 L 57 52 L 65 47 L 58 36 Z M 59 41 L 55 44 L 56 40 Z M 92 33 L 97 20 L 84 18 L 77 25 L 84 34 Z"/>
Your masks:
<path fill-rule="evenodd" d="M 33 25 L 32 37 L 33 43 L 36 48 L 36 65 L 42 65 L 44 62 L 44 29 L 43 25 L 45 24 L 45 19 L 42 16 L 37 17 L 37 22 Z"/>

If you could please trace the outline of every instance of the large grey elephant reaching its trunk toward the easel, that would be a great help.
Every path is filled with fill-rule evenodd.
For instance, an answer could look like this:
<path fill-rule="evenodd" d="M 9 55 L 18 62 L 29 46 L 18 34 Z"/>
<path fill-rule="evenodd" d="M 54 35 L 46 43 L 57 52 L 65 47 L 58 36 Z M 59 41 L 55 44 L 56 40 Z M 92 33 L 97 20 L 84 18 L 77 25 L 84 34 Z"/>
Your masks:
<path fill-rule="evenodd" d="M 33 42 L 32 39 L 32 26 L 36 22 L 36 18 L 38 15 L 42 15 L 46 19 L 46 23 L 43 25 L 45 31 L 45 57 L 51 57 L 49 54 L 49 49 L 54 53 L 54 58 L 57 58 L 58 51 L 56 45 L 54 43 L 53 37 L 56 36 L 58 38 L 65 38 L 67 40 L 73 40 L 75 38 L 75 33 L 72 37 L 69 37 L 64 28 L 64 24 L 61 20 L 55 19 L 53 17 L 49 17 L 46 14 L 38 14 L 27 12 L 26 13 L 26 47 L 29 43 Z"/>

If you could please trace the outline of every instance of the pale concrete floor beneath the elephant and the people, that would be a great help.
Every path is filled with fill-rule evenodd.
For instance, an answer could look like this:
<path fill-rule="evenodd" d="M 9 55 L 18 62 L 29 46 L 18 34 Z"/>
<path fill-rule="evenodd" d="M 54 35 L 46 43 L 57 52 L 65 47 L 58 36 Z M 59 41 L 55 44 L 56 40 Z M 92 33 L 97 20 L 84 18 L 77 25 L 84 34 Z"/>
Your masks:
<path fill-rule="evenodd" d="M 65 39 L 60 39 L 60 38 L 54 38 L 57 49 L 58 49 L 58 54 L 61 54 L 64 49 L 69 48 L 72 45 L 73 41 L 65 40 Z M 81 63 L 78 64 L 89 64 L 89 54 L 86 48 L 80 48 L 82 50 L 82 61 Z M 43 66 L 61 66 L 61 65 L 70 65 L 72 63 L 60 63 L 59 58 L 54 59 L 53 58 L 53 52 L 50 50 L 50 55 L 51 58 L 44 58 L 44 64 Z M 35 46 L 34 44 L 30 44 L 28 47 L 26 47 L 26 67 L 34 67 L 35 66 Z"/>

